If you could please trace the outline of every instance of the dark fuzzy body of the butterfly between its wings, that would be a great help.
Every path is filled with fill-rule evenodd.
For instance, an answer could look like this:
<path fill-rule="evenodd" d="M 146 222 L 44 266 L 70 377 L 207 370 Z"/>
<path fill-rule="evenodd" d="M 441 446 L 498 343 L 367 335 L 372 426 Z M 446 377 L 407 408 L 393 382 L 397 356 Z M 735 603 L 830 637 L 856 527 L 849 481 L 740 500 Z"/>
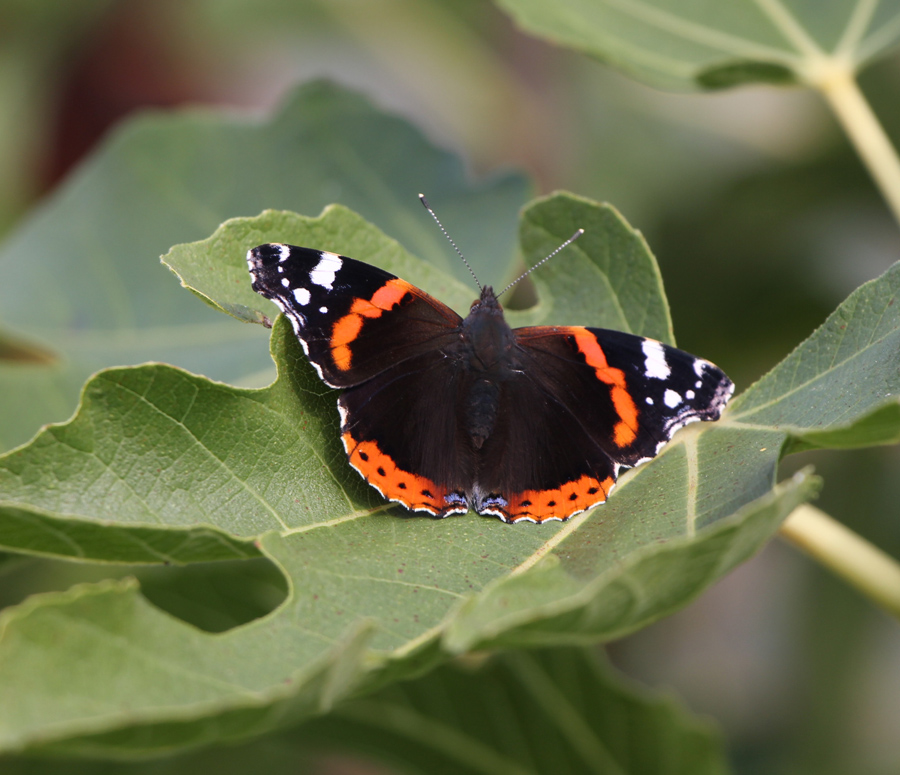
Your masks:
<path fill-rule="evenodd" d="M 514 372 L 515 336 L 490 286 L 481 291 L 461 330 L 466 380 L 464 430 L 475 449 L 481 449 L 497 422 L 501 383 Z"/>

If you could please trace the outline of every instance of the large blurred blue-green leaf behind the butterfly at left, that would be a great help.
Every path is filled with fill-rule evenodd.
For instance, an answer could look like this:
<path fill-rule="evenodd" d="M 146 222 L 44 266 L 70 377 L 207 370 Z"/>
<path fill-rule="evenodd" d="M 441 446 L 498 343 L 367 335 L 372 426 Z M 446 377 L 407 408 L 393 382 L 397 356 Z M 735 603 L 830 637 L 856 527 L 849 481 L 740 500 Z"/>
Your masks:
<path fill-rule="evenodd" d="M 0 326 L 52 362 L 0 360 L 0 449 L 69 417 L 99 369 L 161 361 L 262 385 L 264 333 L 186 304 L 159 256 L 227 218 L 339 200 L 419 256 L 465 269 L 416 201 L 424 191 L 482 280 L 512 273 L 517 174 L 473 184 L 462 162 L 406 121 L 326 83 L 266 122 L 207 111 L 124 124 L 0 247 Z M 26 259 L 27 257 L 27 259 Z"/>

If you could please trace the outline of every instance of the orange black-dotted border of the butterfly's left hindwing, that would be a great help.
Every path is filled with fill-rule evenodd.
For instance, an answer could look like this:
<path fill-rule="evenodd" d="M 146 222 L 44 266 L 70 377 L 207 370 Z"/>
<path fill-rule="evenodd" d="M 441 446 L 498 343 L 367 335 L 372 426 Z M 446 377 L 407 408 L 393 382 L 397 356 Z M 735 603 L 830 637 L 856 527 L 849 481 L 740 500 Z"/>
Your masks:
<path fill-rule="evenodd" d="M 469 505 L 461 492 L 435 484 L 424 476 L 404 471 L 381 451 L 374 441 L 357 441 L 344 432 L 341 436 L 350 465 L 388 500 L 402 503 L 412 511 L 427 511 L 435 517 L 465 514 Z"/>

